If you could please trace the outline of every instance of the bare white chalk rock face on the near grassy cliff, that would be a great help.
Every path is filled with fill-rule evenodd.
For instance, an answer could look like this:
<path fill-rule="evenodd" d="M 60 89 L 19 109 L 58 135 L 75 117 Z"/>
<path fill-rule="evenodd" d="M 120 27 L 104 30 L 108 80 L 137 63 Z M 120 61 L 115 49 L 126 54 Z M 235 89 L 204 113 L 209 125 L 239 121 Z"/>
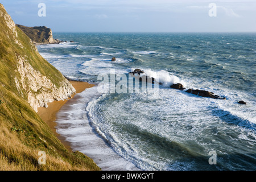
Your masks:
<path fill-rule="evenodd" d="M 14 77 L 16 89 L 22 94 L 27 92 L 27 101 L 35 111 L 38 107 L 47 107 L 47 103 L 54 100 L 65 100 L 75 93 L 75 89 L 68 80 L 63 79 L 59 87 L 52 83 L 42 73 L 36 71 L 26 59 L 17 56 L 17 70 L 20 78 Z"/>

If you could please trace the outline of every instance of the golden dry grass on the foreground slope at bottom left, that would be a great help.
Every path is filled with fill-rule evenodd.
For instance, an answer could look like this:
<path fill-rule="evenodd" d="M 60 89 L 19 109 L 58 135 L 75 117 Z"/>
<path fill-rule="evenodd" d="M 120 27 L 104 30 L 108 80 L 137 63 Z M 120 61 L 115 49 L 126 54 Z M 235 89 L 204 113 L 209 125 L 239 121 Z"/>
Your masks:
<path fill-rule="evenodd" d="M 3 107 L 5 106 L 1 106 Z M 53 146 L 46 138 L 29 139 L 24 130 L 13 130 L 9 121 L 0 117 L 0 170 L 1 171 L 73 171 L 99 170 L 100 168 L 80 152 L 69 152 L 61 144 Z M 48 131 L 50 133 L 50 131 Z M 55 136 L 52 134 L 52 137 Z M 24 142 L 24 140 L 27 140 Z M 29 140 L 29 141 L 28 141 Z M 30 143 L 30 144 L 27 144 Z M 35 145 L 36 143 L 36 145 Z M 40 145 L 39 143 L 43 143 Z M 42 147 L 44 146 L 44 147 Z M 39 151 L 46 152 L 46 164 L 38 163 Z"/>

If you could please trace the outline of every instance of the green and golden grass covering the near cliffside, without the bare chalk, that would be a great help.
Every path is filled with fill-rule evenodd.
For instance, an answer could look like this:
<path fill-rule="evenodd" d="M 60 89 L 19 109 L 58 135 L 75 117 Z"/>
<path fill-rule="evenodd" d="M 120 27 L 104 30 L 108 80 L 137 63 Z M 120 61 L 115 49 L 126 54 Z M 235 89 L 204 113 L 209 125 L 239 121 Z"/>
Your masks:
<path fill-rule="evenodd" d="M 5 12 L 4 9 L 0 11 Z M 15 86 L 20 78 L 16 54 L 27 56 L 36 70 L 59 86 L 63 76 L 36 51 L 30 39 L 17 28 L 23 48 L 7 37 L 8 28 L 0 19 L 0 170 L 99 170 L 81 152 L 69 152 L 42 121 Z M 25 56 L 26 55 L 26 56 Z M 39 165 L 39 151 L 46 152 L 46 165 Z"/>

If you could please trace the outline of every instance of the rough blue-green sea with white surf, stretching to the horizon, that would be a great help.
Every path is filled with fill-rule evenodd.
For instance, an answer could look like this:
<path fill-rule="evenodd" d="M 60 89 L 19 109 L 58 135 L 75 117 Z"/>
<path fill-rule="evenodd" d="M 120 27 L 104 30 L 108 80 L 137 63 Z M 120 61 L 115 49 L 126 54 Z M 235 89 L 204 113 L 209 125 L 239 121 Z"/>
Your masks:
<path fill-rule="evenodd" d="M 37 46 L 44 59 L 65 77 L 96 85 L 57 115 L 57 133 L 74 151 L 103 170 L 256 170 L 255 33 L 53 36 L 67 42 Z M 161 84 L 153 92 L 142 83 L 142 92 L 108 91 L 103 80 L 114 75 L 120 86 L 121 80 L 134 81 L 128 75 L 134 69 Z M 177 83 L 186 89 L 170 88 Z M 100 92 L 100 86 L 107 90 Z M 189 88 L 226 100 L 185 92 Z"/>

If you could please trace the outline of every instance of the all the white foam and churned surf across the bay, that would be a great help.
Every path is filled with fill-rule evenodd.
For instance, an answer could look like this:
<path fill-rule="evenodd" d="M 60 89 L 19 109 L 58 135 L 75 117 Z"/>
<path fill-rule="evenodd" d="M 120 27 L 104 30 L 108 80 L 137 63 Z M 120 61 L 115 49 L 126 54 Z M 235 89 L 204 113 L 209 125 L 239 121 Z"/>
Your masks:
<path fill-rule="evenodd" d="M 65 48 L 71 45 L 68 43 L 56 46 L 66 50 Z M 73 75 L 72 78 L 76 78 L 75 72 L 77 71 L 84 73 L 84 77 L 91 78 L 92 75 L 97 76 L 100 73 L 109 74 L 110 69 L 115 69 L 115 73 L 127 73 L 134 70 L 134 68 L 127 69 L 127 67 L 138 68 L 139 65 L 142 67 L 143 65 L 151 65 L 152 68 L 152 63 L 144 59 L 144 55 L 146 57 L 150 54 L 158 55 L 156 51 L 137 51 L 133 53 L 141 58 L 138 59 L 140 61 L 135 61 L 135 64 L 122 64 L 129 63 L 131 60 L 124 59 L 122 53 L 119 55 L 119 52 L 106 53 L 115 52 L 114 50 L 98 50 L 111 48 L 101 46 L 78 47 L 79 49 L 97 50 L 97 54 L 103 52 L 100 55 L 86 56 L 90 60 L 76 59 L 74 61 L 74 59 L 69 59 L 80 56 L 75 55 L 75 53 L 67 55 L 47 55 L 46 53 L 44 56 L 48 56 L 48 59 L 58 59 L 52 61 L 53 65 L 57 65 L 57 69 L 62 73 L 67 73 L 71 77 Z M 46 48 L 47 46 L 42 49 Z M 117 55 L 117 61 L 111 62 L 109 57 L 114 56 L 114 54 Z M 197 60 L 197 57 L 190 55 L 190 53 L 189 55 L 180 55 L 174 52 L 174 54 L 175 57 L 179 56 L 181 60 L 187 60 L 184 62 Z M 214 54 L 218 55 L 218 53 Z M 174 55 L 170 53 L 167 56 Z M 243 58 L 242 56 L 237 57 Z M 221 67 L 220 63 L 213 64 L 210 62 L 208 64 L 216 68 Z M 226 67 L 229 65 L 229 63 L 222 64 L 225 64 Z M 232 152 L 237 154 L 241 151 L 240 148 L 242 150 L 255 148 L 256 136 L 255 125 L 253 124 L 256 124 L 256 102 L 253 94 L 239 92 L 236 89 L 232 90 L 228 85 L 219 84 L 218 80 L 193 76 L 193 71 L 190 72 L 190 77 L 186 77 L 185 74 L 174 75 L 164 70 L 141 69 L 145 72 L 144 75 L 155 77 L 163 83 L 163 86 L 158 89 L 158 97 L 139 93 L 114 96 L 113 94 L 105 94 L 98 98 L 100 95 L 96 94 L 96 87 L 94 87 L 77 94 L 80 98 L 73 100 L 73 104 L 65 105 L 62 108 L 59 113 L 60 117 L 57 119 L 59 123 L 57 132 L 72 142 L 74 150 L 84 152 L 92 157 L 98 166 L 106 170 L 134 169 L 134 164 L 146 170 L 193 170 L 197 169 L 199 164 L 194 165 L 193 161 L 187 161 L 190 156 L 187 157 L 183 154 L 199 154 L 209 158 L 208 151 L 217 150 L 218 154 L 229 155 L 230 143 L 233 143 L 234 146 L 240 146 L 231 147 L 234 150 Z M 164 68 L 160 67 L 159 69 Z M 81 73 L 78 75 L 82 75 Z M 190 73 L 188 72 L 187 75 Z M 186 93 L 185 90 L 170 89 L 170 85 L 178 82 L 183 84 L 185 88 L 208 90 L 226 97 L 227 100 L 214 100 Z M 237 104 L 239 100 L 246 101 L 247 105 Z M 86 103 L 88 103 L 87 107 Z M 89 121 L 86 114 L 89 115 Z M 125 126 L 127 126 L 126 129 Z M 133 129 L 135 130 L 132 131 Z M 163 141 L 167 141 L 167 144 L 171 143 L 171 147 L 163 148 L 163 156 L 159 155 L 162 151 L 158 150 L 158 143 L 152 146 L 151 142 L 148 142 L 151 135 L 154 135 L 151 140 L 153 143 L 155 140 L 159 140 L 159 143 Z M 143 138 L 145 136 L 148 138 Z M 242 140 L 242 142 L 237 142 L 238 140 Z M 165 145 L 166 143 L 160 147 L 168 146 Z M 244 147 L 241 147 L 243 143 L 246 143 L 248 147 L 242 148 Z M 172 154 L 170 152 L 172 147 L 177 150 L 182 148 L 182 150 L 177 153 L 174 150 Z M 223 156 L 225 157 L 225 155 Z M 122 156 L 123 159 L 119 156 Z M 230 157 L 232 156 L 230 155 Z M 134 164 L 127 163 L 127 161 Z M 218 163 L 221 164 L 221 160 L 218 160 Z M 222 166 L 227 165 L 222 163 Z"/>

